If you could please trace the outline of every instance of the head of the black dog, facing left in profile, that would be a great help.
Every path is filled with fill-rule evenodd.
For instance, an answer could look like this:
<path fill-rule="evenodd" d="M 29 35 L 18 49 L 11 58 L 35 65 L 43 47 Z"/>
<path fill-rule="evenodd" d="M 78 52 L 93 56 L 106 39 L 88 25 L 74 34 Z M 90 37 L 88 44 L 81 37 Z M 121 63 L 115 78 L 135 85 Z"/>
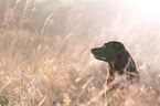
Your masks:
<path fill-rule="evenodd" d="M 108 43 L 105 43 L 102 47 L 95 47 L 90 51 L 95 59 L 105 62 L 111 62 L 126 50 L 124 44 L 121 44 L 120 42 L 110 41 Z"/>

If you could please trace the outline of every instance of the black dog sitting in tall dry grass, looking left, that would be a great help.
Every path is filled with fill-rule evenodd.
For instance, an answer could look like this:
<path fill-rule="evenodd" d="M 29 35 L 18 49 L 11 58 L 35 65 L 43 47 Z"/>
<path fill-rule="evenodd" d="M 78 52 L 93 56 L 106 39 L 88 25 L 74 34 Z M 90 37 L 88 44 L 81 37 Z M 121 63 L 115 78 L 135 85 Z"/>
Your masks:
<path fill-rule="evenodd" d="M 116 41 L 105 43 L 102 47 L 95 47 L 90 50 L 95 59 L 109 63 L 109 76 L 110 82 L 115 72 L 119 75 L 127 73 L 129 80 L 139 80 L 139 73 L 135 65 L 135 62 L 124 44 Z"/>

